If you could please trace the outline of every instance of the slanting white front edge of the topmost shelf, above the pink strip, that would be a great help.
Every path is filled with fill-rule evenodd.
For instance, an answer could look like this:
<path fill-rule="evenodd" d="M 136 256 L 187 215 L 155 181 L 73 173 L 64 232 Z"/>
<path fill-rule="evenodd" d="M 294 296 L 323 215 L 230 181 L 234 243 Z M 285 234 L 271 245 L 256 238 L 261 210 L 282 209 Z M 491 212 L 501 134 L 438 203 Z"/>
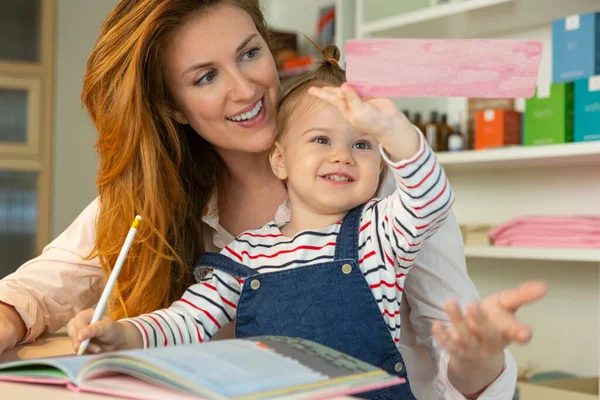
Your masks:
<path fill-rule="evenodd" d="M 393 17 L 382 18 L 377 21 L 364 23 L 362 26 L 360 26 L 358 33 L 360 36 L 370 35 L 377 32 L 386 31 L 388 29 L 415 25 L 422 22 L 432 21 L 456 14 L 462 14 L 480 8 L 491 7 L 511 1 L 514 0 L 462 0 L 458 3 L 442 4 L 423 10 L 411 11 Z"/>

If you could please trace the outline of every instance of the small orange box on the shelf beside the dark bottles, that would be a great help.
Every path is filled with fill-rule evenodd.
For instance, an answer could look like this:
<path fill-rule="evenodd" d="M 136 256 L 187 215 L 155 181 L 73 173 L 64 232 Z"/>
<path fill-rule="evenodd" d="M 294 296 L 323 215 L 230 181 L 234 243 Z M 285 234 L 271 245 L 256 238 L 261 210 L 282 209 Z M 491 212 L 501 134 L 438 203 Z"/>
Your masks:
<path fill-rule="evenodd" d="M 475 120 L 475 148 L 521 144 L 521 113 L 506 110 L 479 111 Z"/>

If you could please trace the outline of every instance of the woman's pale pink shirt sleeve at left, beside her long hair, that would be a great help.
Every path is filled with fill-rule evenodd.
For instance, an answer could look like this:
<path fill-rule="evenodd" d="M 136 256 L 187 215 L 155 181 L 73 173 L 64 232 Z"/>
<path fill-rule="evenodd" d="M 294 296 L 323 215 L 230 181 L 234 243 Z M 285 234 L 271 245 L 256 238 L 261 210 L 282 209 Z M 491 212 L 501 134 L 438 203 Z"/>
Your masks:
<path fill-rule="evenodd" d="M 100 298 L 100 263 L 85 259 L 96 240 L 98 207 L 96 199 L 40 256 L 0 281 L 0 301 L 15 307 L 27 327 L 21 343 L 60 329 Z"/>

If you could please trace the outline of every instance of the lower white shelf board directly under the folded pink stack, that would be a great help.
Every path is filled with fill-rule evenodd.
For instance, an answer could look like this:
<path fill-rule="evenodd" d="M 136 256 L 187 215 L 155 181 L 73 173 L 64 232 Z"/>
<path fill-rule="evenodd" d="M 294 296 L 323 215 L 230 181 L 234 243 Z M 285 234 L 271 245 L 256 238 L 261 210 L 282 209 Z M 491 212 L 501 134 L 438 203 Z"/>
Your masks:
<path fill-rule="evenodd" d="M 465 246 L 469 258 L 600 263 L 600 249 Z"/>

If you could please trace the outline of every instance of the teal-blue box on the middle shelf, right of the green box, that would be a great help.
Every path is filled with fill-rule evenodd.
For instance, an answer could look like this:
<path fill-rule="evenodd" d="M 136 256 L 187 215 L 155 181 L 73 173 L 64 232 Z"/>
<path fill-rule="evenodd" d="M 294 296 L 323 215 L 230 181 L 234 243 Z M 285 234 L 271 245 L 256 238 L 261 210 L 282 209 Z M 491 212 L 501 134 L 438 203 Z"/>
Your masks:
<path fill-rule="evenodd" d="M 600 75 L 575 81 L 573 141 L 600 140 Z"/>

